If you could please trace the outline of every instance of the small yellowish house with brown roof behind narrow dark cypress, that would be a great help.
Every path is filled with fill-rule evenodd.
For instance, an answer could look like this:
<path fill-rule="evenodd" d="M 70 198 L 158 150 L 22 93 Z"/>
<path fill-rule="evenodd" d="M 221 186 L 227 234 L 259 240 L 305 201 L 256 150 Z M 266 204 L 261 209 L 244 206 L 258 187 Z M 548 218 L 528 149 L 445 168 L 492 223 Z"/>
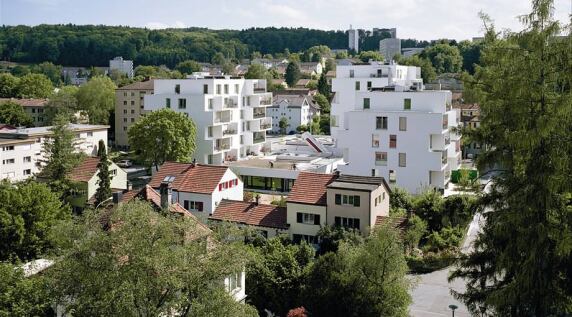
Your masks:
<path fill-rule="evenodd" d="M 73 184 L 73 196 L 70 198 L 70 205 L 76 211 L 81 211 L 93 199 L 97 188 L 99 188 L 99 178 L 97 177 L 97 164 L 99 157 L 87 157 L 76 166 L 67 176 Z M 115 163 L 110 162 L 109 171 L 111 173 L 111 190 L 124 191 L 127 189 L 127 172 Z M 111 197 L 110 197 L 111 198 Z"/>

